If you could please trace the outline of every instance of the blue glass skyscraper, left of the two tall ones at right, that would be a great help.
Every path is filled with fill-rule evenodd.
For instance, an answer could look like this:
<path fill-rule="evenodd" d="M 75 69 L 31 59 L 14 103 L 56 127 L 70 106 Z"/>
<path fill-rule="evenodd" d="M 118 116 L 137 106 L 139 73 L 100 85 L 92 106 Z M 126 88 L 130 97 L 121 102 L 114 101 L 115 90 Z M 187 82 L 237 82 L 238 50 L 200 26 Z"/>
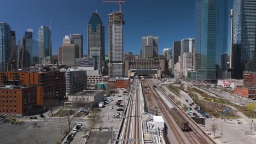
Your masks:
<path fill-rule="evenodd" d="M 196 71 L 199 80 L 225 79 L 228 51 L 228 1 L 196 0 Z M 222 61 L 223 59 L 223 61 Z"/>

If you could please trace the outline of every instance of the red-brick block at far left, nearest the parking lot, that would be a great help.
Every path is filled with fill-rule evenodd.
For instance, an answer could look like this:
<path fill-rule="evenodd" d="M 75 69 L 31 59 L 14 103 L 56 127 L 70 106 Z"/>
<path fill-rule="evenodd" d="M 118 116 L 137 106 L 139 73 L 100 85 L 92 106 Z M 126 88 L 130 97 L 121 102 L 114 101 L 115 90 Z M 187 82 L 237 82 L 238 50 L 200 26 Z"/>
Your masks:
<path fill-rule="evenodd" d="M 1 86 L 1 115 L 24 116 L 33 112 L 37 106 L 37 87 Z"/>

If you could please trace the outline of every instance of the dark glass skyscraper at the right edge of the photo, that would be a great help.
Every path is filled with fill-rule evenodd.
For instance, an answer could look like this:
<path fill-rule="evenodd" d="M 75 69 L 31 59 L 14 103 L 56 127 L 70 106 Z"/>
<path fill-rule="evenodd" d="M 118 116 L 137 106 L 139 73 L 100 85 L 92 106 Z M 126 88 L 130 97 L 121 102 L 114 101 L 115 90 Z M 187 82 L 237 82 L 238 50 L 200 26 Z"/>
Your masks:
<path fill-rule="evenodd" d="M 256 43 L 256 1 L 234 0 L 232 10 L 231 69 L 233 79 L 242 79 L 253 61 Z"/>

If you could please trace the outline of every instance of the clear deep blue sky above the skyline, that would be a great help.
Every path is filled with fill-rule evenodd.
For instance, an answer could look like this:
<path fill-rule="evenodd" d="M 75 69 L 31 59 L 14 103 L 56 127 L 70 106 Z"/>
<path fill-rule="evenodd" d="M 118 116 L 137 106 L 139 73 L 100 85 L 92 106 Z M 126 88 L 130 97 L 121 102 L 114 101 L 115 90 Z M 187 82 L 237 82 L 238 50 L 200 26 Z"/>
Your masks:
<path fill-rule="evenodd" d="M 53 55 L 61 46 L 65 35 L 84 35 L 84 54 L 87 53 L 86 25 L 97 10 L 105 26 L 106 53 L 108 53 L 108 14 L 118 11 L 118 4 L 99 0 L 8 0 L 1 2 L 0 21 L 7 22 L 16 31 L 17 40 L 27 28 L 34 29 L 38 38 L 41 25 L 49 26 Z M 172 41 L 195 37 L 194 0 L 130 0 L 123 4 L 124 52 L 139 53 L 141 37 L 149 33 L 159 37 L 159 51 L 172 47 Z"/>

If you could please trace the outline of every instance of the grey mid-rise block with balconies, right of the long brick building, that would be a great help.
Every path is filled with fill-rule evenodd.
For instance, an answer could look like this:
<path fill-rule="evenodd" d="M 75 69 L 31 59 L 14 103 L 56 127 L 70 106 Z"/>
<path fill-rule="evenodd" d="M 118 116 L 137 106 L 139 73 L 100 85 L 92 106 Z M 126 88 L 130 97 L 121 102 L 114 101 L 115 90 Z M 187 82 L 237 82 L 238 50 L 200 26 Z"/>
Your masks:
<path fill-rule="evenodd" d="M 86 71 L 74 68 L 61 69 L 66 76 L 66 95 L 86 89 Z"/>

